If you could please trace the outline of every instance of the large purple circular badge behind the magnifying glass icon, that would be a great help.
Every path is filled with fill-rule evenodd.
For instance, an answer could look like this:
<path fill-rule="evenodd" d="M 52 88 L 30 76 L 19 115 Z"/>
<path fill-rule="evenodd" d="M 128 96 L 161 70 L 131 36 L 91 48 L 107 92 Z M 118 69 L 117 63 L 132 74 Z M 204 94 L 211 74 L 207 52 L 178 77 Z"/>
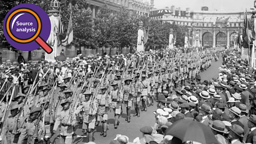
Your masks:
<path fill-rule="evenodd" d="M 6 20 L 8 19 L 9 15 L 17 10 L 17 9 L 21 9 L 21 8 L 28 8 L 30 10 L 33 10 L 35 13 L 37 13 L 37 15 L 39 16 L 39 18 L 41 19 L 41 25 L 42 25 L 42 29 L 41 29 L 41 33 L 39 34 L 40 37 L 42 37 L 42 39 L 44 41 L 47 41 L 47 39 L 50 36 L 50 32 L 51 32 L 51 21 L 49 16 L 47 15 L 47 13 L 39 6 L 35 5 L 35 4 L 29 4 L 29 3 L 24 3 L 24 4 L 19 4 L 15 7 L 13 7 L 5 16 L 4 18 L 4 25 L 3 25 L 3 30 L 4 30 L 4 36 L 6 38 L 6 40 L 16 49 L 21 50 L 21 51 L 33 51 L 38 49 L 40 46 L 35 42 L 35 41 L 31 41 L 29 43 L 18 43 L 13 41 L 12 38 L 10 38 L 10 36 L 7 34 L 6 32 Z M 23 13 L 23 14 L 22 14 Z M 21 14 L 19 17 L 18 15 Z M 18 17 L 18 18 L 17 18 Z M 15 19 L 17 18 L 17 19 Z M 15 22 L 13 23 L 15 19 Z M 19 21 L 19 24 L 17 23 Z M 22 22 L 22 23 L 20 23 Z M 31 25 L 31 23 L 33 23 Z M 13 27 L 12 27 L 13 24 Z M 25 26 L 23 26 L 23 24 Z M 22 25 L 22 26 L 20 26 Z M 31 25 L 31 26 L 30 26 Z M 37 27 L 38 27 L 38 23 L 36 18 L 28 13 L 28 12 L 20 12 L 17 14 L 14 14 L 11 22 L 10 22 L 10 30 L 13 36 L 15 36 L 16 38 L 19 39 L 28 39 L 30 37 L 32 37 L 36 31 L 37 31 Z M 17 31 L 17 28 L 19 28 L 19 31 Z M 25 32 L 25 30 L 28 29 L 28 33 Z M 31 31 L 30 31 L 31 29 Z M 35 29 L 35 31 L 34 31 Z M 22 30 L 22 31 L 20 31 Z M 23 31 L 24 30 L 24 31 Z"/>

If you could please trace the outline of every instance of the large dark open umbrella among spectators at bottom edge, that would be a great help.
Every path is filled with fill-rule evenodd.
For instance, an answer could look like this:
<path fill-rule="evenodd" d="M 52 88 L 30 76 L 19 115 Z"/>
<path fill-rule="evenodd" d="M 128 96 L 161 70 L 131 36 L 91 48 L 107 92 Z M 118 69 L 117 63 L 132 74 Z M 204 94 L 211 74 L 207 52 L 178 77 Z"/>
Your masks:
<path fill-rule="evenodd" d="M 196 141 L 205 144 L 218 144 L 210 127 L 191 119 L 183 119 L 173 123 L 166 135 L 172 135 L 182 141 Z"/>

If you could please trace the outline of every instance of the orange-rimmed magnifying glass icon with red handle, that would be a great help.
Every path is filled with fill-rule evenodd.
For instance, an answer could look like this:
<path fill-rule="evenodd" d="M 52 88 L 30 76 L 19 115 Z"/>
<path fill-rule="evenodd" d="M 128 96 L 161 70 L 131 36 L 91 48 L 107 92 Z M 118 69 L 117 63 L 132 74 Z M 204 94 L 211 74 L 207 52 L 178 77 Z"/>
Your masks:
<path fill-rule="evenodd" d="M 34 18 L 36 19 L 36 22 L 37 22 L 37 28 L 35 30 L 35 34 L 29 38 L 26 38 L 26 39 L 22 39 L 22 38 L 19 38 L 15 35 L 13 35 L 12 33 L 12 30 L 11 30 L 11 20 L 12 18 L 14 17 L 15 14 L 18 14 L 18 13 L 22 13 L 22 12 L 25 12 L 25 13 L 29 13 L 31 15 L 34 16 Z M 28 9 L 28 8 L 20 8 L 20 9 L 17 9 L 17 10 L 14 10 L 13 12 L 11 12 L 8 17 L 7 17 L 7 20 L 6 20 L 6 33 L 9 35 L 9 37 L 14 41 L 14 42 L 17 42 L 17 43 L 21 43 L 21 44 L 26 44 L 26 43 L 31 43 L 31 42 L 36 42 L 39 46 L 42 47 L 42 49 L 44 49 L 44 51 L 48 54 L 50 54 L 53 49 L 52 47 L 47 44 L 44 39 L 40 36 L 41 34 L 41 31 L 42 31 L 42 21 L 41 19 L 39 18 L 38 14 L 31 10 L 31 9 Z"/>

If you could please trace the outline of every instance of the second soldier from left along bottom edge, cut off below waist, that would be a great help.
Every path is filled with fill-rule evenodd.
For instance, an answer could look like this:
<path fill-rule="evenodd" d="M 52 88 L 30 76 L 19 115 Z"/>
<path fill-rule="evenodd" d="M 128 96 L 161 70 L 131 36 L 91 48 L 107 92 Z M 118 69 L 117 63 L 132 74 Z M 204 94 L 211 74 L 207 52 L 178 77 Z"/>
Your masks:
<path fill-rule="evenodd" d="M 40 121 L 37 124 L 37 118 L 41 111 L 42 111 L 42 108 L 39 108 L 39 107 L 31 108 L 28 121 L 22 127 L 23 130 L 22 130 L 22 133 L 20 134 L 18 143 L 21 143 L 23 138 L 26 137 L 26 135 L 28 135 L 28 141 L 27 141 L 28 144 L 44 142 L 45 131 L 43 131 L 43 127 L 42 127 L 43 122 Z M 38 126 L 37 127 L 38 131 L 36 131 L 36 125 Z M 38 133 L 35 133 L 35 132 L 38 132 Z M 35 135 L 37 135 L 37 137 L 35 137 Z"/>

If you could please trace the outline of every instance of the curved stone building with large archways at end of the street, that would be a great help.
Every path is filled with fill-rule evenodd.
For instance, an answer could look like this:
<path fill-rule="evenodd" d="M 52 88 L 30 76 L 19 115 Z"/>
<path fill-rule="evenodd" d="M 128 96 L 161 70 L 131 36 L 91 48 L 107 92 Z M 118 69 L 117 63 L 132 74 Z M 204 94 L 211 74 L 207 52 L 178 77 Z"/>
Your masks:
<path fill-rule="evenodd" d="M 248 11 L 247 17 L 251 18 L 251 15 L 252 11 Z M 190 8 L 182 11 L 171 6 L 171 9 L 152 10 L 149 17 L 187 26 L 191 42 L 194 42 L 195 34 L 199 34 L 201 45 L 208 47 L 233 47 L 244 23 L 244 11 L 208 11 L 207 7 L 202 7 L 201 11 L 191 11 Z"/>

